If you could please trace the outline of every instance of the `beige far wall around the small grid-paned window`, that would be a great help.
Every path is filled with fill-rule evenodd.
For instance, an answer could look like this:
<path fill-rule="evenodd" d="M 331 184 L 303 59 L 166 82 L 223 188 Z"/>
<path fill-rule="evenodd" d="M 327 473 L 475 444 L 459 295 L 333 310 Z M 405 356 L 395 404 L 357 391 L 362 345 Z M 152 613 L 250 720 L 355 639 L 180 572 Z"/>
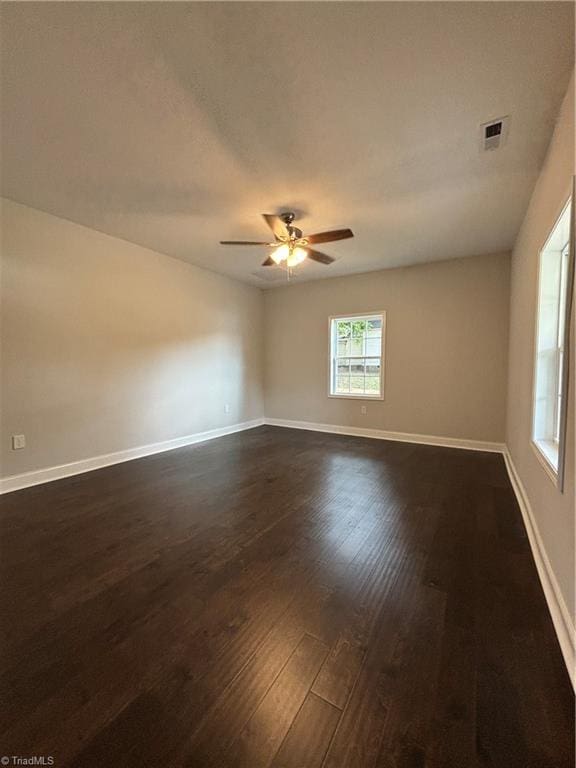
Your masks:
<path fill-rule="evenodd" d="M 503 441 L 508 295 L 506 254 L 267 291 L 266 416 Z M 329 398 L 329 316 L 380 309 L 384 401 Z"/>

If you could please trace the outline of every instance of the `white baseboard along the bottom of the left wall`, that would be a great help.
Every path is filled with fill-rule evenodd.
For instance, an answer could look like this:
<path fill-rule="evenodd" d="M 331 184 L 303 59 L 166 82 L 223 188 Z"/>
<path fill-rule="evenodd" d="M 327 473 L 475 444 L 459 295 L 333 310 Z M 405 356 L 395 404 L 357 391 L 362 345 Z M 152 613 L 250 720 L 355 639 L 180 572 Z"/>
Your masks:
<path fill-rule="evenodd" d="M 144 456 L 151 456 L 154 453 L 163 453 L 172 451 L 175 448 L 183 448 L 186 445 L 194 443 L 203 443 L 206 440 L 214 440 L 217 437 L 231 435 L 234 432 L 243 432 L 246 429 L 254 429 L 264 424 L 264 419 L 254 419 L 253 421 L 244 421 L 240 424 L 233 424 L 230 427 L 220 427 L 219 429 L 210 429 L 208 432 L 197 432 L 194 435 L 185 435 L 176 437 L 173 440 L 164 440 L 160 443 L 151 443 L 150 445 L 141 445 L 137 448 L 128 448 L 125 451 L 116 451 L 115 453 L 106 453 L 102 456 L 94 456 L 90 459 L 81 459 L 73 461 L 70 464 L 60 464 L 56 467 L 46 467 L 32 472 L 24 472 L 21 475 L 11 475 L 0 479 L 0 494 L 18 491 L 21 488 L 28 488 L 31 485 L 40 485 L 49 483 L 53 480 L 61 480 L 64 477 L 80 475 L 83 472 L 92 472 L 95 469 L 108 467 L 111 464 L 121 464 L 124 461 L 141 459 Z"/>

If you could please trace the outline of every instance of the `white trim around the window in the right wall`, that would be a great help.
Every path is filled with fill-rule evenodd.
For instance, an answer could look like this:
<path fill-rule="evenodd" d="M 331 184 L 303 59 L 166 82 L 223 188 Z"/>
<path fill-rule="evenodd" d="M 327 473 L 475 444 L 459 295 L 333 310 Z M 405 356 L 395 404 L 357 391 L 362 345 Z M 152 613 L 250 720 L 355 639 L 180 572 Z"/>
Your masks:
<path fill-rule="evenodd" d="M 553 447 L 551 443 L 556 445 L 555 441 L 551 440 L 537 440 L 534 437 L 534 415 L 536 412 L 536 370 L 538 360 L 538 338 L 539 338 L 539 326 L 540 326 L 540 282 L 542 275 L 542 254 L 546 250 L 546 246 L 554 233 L 564 211 L 568 206 L 570 208 L 570 230 L 568 237 L 569 252 L 568 252 L 568 271 L 566 275 L 566 303 L 564 307 L 564 365 L 561 372 L 561 387 L 562 398 L 560 402 L 560 434 L 557 443 L 557 467 L 552 463 L 550 454 L 553 453 Z M 574 295 L 574 261 L 575 261 L 575 217 L 576 217 L 576 177 L 572 177 L 571 189 L 567 196 L 563 196 L 562 203 L 559 206 L 556 216 L 553 219 L 553 223 L 547 231 L 546 238 L 542 245 L 538 249 L 538 280 L 536 281 L 536 318 L 534 323 L 534 345 L 533 345 L 533 358 L 532 358 L 532 409 L 531 409 L 531 423 L 530 423 L 530 446 L 536 455 L 536 458 L 540 462 L 542 468 L 546 472 L 546 475 L 558 488 L 560 493 L 564 492 L 564 472 L 566 465 L 566 430 L 568 421 L 568 395 L 569 395 L 569 378 L 570 378 L 570 333 L 571 333 L 571 313 L 572 313 L 572 300 Z"/>

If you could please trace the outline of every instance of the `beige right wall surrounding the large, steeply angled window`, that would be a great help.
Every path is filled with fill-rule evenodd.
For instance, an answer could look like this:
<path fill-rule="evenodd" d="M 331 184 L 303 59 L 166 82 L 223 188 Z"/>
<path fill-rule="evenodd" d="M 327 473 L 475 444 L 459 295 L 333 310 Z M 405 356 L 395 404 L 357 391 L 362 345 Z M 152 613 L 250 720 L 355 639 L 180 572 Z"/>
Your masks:
<path fill-rule="evenodd" d="M 539 252 L 566 202 L 574 173 L 574 77 L 512 257 L 506 440 L 546 553 L 574 612 L 574 328 L 568 406 L 566 487 L 561 494 L 531 447 L 534 334 Z"/>

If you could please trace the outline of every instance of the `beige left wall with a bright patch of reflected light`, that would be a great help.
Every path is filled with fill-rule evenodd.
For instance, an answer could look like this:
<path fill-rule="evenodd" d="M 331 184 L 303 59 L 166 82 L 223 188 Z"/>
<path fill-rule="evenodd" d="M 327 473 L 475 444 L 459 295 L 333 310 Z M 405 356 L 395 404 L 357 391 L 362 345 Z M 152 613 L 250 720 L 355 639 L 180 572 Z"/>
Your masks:
<path fill-rule="evenodd" d="M 4 201 L 2 294 L 4 476 L 263 416 L 256 288 Z"/>

